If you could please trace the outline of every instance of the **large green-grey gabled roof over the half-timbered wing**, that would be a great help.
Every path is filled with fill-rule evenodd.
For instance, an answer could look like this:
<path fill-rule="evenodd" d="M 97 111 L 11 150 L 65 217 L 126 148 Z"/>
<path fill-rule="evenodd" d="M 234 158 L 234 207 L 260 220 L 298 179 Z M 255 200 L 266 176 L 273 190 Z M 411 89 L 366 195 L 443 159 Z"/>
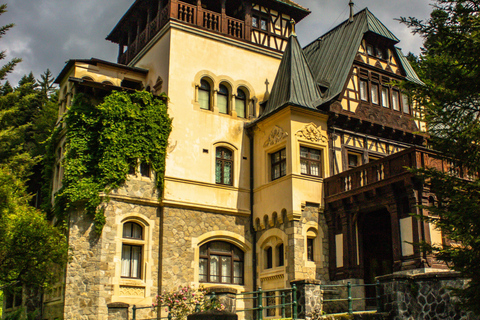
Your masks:
<path fill-rule="evenodd" d="M 328 88 L 321 100 L 322 103 L 341 93 L 355 55 L 367 32 L 390 40 L 392 45 L 400 41 L 368 8 L 365 8 L 354 15 L 353 21 L 345 20 L 303 49 L 315 80 Z"/>

